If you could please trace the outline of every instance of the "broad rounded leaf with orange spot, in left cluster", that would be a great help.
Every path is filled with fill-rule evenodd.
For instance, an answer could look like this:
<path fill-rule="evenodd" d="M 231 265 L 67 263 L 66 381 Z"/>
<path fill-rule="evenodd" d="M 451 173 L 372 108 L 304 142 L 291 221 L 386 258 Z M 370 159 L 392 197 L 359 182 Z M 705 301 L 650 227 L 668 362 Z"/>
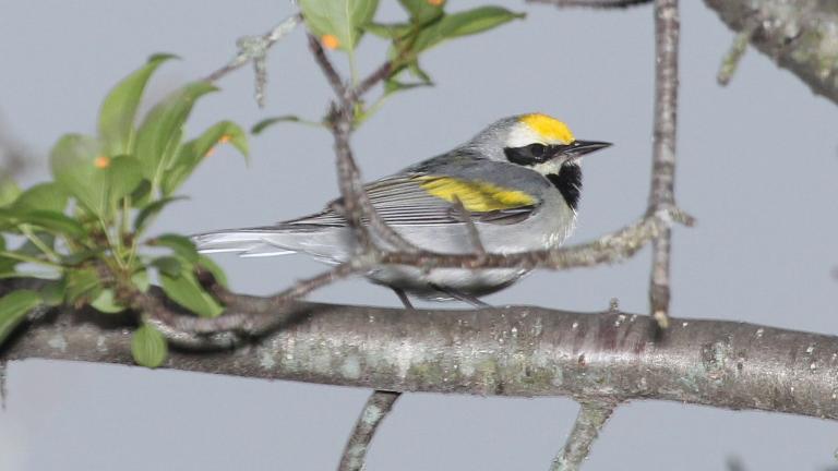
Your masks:
<path fill-rule="evenodd" d="M 93 137 L 65 134 L 52 147 L 50 166 L 52 176 L 63 190 L 95 215 L 104 216 L 110 158 L 101 153 L 101 145 Z"/>

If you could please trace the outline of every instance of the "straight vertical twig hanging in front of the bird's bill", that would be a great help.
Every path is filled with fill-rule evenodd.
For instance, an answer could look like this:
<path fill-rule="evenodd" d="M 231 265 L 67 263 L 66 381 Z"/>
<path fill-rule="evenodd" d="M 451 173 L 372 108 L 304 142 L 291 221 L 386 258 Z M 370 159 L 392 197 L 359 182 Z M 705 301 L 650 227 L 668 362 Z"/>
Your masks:
<path fill-rule="evenodd" d="M 675 204 L 675 124 L 678 117 L 678 0 L 655 1 L 655 131 L 649 213 Z M 653 241 L 649 303 L 661 328 L 669 325 L 669 265 L 672 232 Z"/>

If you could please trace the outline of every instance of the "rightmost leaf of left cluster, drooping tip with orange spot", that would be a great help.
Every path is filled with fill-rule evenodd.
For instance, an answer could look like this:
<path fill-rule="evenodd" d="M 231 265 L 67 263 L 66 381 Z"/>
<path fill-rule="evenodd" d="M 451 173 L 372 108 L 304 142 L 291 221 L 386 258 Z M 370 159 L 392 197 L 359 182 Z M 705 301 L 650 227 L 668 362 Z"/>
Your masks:
<path fill-rule="evenodd" d="M 247 133 L 238 124 L 230 121 L 222 121 L 204 131 L 201 136 L 182 146 L 175 158 L 167 166 L 163 176 L 161 190 L 164 195 L 169 195 L 192 174 L 201 160 L 212 154 L 218 144 L 229 142 L 248 159 Z"/>

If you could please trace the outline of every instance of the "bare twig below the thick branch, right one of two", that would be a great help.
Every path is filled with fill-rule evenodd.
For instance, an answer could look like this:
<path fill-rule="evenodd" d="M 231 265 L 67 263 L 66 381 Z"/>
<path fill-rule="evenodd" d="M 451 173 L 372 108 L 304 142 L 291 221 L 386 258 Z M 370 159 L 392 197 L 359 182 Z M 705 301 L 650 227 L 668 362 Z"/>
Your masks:
<path fill-rule="evenodd" d="M 584 401 L 564 448 L 553 459 L 551 471 L 577 471 L 590 452 L 590 445 L 611 416 L 615 404 L 608 401 Z"/>

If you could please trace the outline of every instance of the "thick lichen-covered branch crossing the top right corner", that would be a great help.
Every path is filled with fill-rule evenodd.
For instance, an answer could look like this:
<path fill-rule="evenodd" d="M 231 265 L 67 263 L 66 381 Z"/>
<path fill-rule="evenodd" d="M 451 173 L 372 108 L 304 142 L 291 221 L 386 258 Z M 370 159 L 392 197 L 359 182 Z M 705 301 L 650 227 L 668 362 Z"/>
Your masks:
<path fill-rule="evenodd" d="M 838 104 L 838 3 L 799 0 L 705 0 L 731 29 L 753 29 L 751 44 Z"/>

